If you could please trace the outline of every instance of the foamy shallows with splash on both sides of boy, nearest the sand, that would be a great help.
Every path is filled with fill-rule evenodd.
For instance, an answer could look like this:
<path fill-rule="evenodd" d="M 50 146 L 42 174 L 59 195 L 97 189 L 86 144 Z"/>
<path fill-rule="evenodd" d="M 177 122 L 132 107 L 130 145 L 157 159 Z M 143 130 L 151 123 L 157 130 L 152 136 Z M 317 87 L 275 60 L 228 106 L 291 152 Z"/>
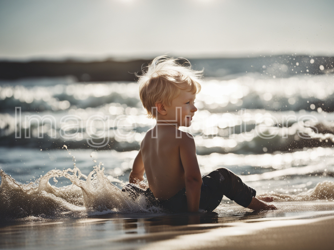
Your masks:
<path fill-rule="evenodd" d="M 9 151 L 14 153 L 12 149 L 3 148 L 3 152 L 6 151 L 8 155 L 10 155 Z M 31 151 L 36 150 L 31 149 Z M 49 151 L 43 150 L 39 150 L 35 158 L 30 158 L 31 152 L 21 155 L 23 159 L 21 164 L 23 166 L 27 164 L 29 166 L 27 169 L 33 170 L 34 173 L 21 172 L 20 169 L 26 169 L 24 167 L 17 167 L 17 172 L 10 171 L 11 166 L 17 164 L 15 157 L 12 158 L 12 162 L 10 160 L 6 162 L 8 171 L 4 168 L 0 173 L 2 177 L 0 195 L 3 199 L 0 205 L 2 221 L 24 218 L 43 221 L 138 212 L 161 213 L 158 208 L 147 207 L 144 197 L 140 196 L 137 200 L 133 200 L 121 191 L 122 186 L 128 181 L 136 151 L 111 150 L 97 153 L 88 149 L 70 151 L 66 147 L 51 151 L 52 160 Z M 89 152 L 91 152 L 90 155 Z M 278 156 L 283 159 L 281 161 L 284 162 L 281 165 L 277 155 L 273 154 L 261 156 L 211 154 L 198 156 L 198 160 L 202 174 L 207 174 L 221 166 L 227 167 L 240 175 L 246 184 L 255 188 L 257 195 L 271 195 L 274 201 L 334 201 L 334 182 L 330 169 L 334 149 L 314 148 L 307 152 L 308 155 L 313 155 L 310 158 L 303 158 L 300 154 L 296 154 L 303 152 L 287 153 L 288 158 L 286 155 L 279 154 Z M 83 160 L 85 155 L 86 161 Z M 80 159 L 81 156 L 83 159 Z M 57 160 L 54 161 L 54 158 Z M 254 158 L 257 164 L 254 164 Z M 275 166 L 272 164 L 268 166 L 274 158 Z M 308 164 L 300 164 L 300 158 Z M 290 165 L 287 159 L 290 160 Z M 102 160 L 106 160 L 106 164 L 102 163 Z M 49 162 L 46 166 L 38 163 L 46 161 Z M 59 169 L 58 162 L 63 162 L 62 170 Z M 86 165 L 82 164 L 81 167 L 81 162 Z M 89 162 L 92 163 L 89 164 Z M 33 168 L 33 164 L 38 167 Z M 29 178 L 35 181 L 29 181 Z M 24 180 L 28 181 L 23 184 Z M 230 205 L 233 201 L 223 198 L 222 204 Z"/>

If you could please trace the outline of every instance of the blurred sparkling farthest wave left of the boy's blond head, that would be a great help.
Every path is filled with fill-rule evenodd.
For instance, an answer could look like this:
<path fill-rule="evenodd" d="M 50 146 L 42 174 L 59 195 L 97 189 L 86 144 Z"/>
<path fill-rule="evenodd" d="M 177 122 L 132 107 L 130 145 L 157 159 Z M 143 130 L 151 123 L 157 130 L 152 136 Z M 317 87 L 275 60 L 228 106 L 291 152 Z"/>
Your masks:
<path fill-rule="evenodd" d="M 94 108 L 106 103 L 120 103 L 125 107 L 140 106 L 138 84 L 91 83 L 58 84 L 56 86 L 3 85 L 0 86 L 0 111 L 61 111 L 72 108 Z"/>

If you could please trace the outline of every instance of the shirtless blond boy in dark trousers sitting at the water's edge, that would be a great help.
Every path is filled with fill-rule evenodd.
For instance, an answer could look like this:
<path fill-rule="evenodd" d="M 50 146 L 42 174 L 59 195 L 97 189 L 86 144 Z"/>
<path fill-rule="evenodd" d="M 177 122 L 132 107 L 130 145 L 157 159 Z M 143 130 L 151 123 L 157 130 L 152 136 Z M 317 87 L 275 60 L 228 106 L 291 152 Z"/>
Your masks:
<path fill-rule="evenodd" d="M 140 144 L 129 182 L 142 185 L 146 172 L 149 188 L 139 192 L 151 205 L 171 212 L 213 211 L 223 195 L 253 210 L 276 209 L 255 198 L 256 191 L 226 168 L 201 177 L 194 138 L 178 128 L 191 125 L 202 72 L 191 70 L 190 63 L 180 65 L 177 60 L 157 57 L 139 78 L 140 99 L 157 125 Z M 136 188 L 130 184 L 123 191 L 129 189 Z"/>

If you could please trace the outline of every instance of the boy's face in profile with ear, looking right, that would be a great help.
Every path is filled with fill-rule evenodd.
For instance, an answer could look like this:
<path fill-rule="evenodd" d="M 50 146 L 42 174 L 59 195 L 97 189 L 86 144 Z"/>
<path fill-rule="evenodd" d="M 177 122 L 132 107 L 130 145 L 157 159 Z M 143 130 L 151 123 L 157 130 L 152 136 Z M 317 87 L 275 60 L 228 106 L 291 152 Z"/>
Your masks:
<path fill-rule="evenodd" d="M 194 105 L 196 94 L 188 92 L 189 89 L 180 90 L 180 94 L 172 100 L 171 106 L 165 106 L 167 111 L 166 120 L 177 120 L 176 122 L 170 121 L 169 123 L 177 123 L 178 127 L 191 125 L 192 117 L 194 116 L 197 108 Z"/>

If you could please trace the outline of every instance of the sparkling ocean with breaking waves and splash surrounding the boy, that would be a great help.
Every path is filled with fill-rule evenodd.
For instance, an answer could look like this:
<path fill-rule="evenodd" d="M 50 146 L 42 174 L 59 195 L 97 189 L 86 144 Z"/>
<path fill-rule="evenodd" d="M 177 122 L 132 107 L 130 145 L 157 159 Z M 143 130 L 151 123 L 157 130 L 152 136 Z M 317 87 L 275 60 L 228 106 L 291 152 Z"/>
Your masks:
<path fill-rule="evenodd" d="M 258 195 L 272 195 L 280 208 L 259 215 L 223 198 L 214 213 L 200 213 L 197 224 L 333 210 L 334 75 L 323 65 L 311 73 L 312 60 L 259 64 L 253 72 L 195 62 L 211 74 L 201 82 L 191 127 L 180 129 L 194 135 L 201 174 L 226 167 Z M 253 67 L 248 63 L 240 67 Z M 2 246 L 43 248 L 51 235 L 64 239 L 53 240 L 55 248 L 85 246 L 76 233 L 92 230 L 91 248 L 101 232 L 117 239 L 114 248 L 131 249 L 151 238 L 127 234 L 149 235 L 159 226 L 168 238 L 175 236 L 173 225 L 182 231 L 196 224 L 192 215 L 165 214 L 121 191 L 139 143 L 155 126 L 136 82 L 78 82 L 72 76 L 2 80 L 0 112 Z M 26 231 L 27 225 L 44 225 L 32 231 L 43 240 Z M 8 234 L 18 227 L 26 241 Z"/>

